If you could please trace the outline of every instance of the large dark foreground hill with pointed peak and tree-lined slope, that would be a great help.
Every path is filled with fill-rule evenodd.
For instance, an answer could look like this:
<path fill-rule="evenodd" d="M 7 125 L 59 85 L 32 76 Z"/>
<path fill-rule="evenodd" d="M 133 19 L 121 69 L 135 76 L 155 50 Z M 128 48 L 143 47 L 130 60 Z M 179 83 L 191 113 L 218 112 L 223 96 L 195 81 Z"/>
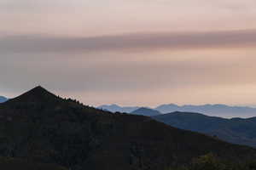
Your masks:
<path fill-rule="evenodd" d="M 209 152 L 237 162 L 256 157 L 250 147 L 97 110 L 41 87 L 0 104 L 0 134 L 0 156 L 72 170 L 164 170 Z"/>

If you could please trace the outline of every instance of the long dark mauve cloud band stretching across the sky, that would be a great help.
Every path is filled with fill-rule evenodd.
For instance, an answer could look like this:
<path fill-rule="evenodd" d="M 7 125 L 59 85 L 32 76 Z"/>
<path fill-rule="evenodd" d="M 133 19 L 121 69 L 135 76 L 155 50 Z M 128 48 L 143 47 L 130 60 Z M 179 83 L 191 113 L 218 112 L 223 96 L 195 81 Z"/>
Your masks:
<path fill-rule="evenodd" d="M 234 48 L 256 45 L 256 30 L 186 33 L 136 33 L 102 37 L 12 36 L 0 39 L 6 53 L 148 51 L 156 49 Z"/>

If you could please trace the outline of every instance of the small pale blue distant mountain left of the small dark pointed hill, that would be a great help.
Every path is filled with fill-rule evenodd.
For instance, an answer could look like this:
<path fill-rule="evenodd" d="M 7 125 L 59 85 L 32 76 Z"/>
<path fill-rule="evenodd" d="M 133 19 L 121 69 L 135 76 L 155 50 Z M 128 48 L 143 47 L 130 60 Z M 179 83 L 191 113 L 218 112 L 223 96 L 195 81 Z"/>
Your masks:
<path fill-rule="evenodd" d="M 121 107 L 119 105 L 101 105 L 97 107 L 98 109 L 102 109 L 104 111 L 111 111 L 111 112 L 121 112 L 121 113 L 130 113 L 132 111 L 135 111 L 139 109 L 139 107 Z"/>

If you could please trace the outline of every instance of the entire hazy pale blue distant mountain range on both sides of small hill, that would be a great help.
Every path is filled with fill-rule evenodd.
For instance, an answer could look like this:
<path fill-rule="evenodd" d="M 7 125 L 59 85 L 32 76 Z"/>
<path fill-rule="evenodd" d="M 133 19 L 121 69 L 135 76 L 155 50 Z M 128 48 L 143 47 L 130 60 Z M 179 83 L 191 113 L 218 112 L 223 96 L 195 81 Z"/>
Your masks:
<path fill-rule="evenodd" d="M 140 107 L 122 107 L 119 105 L 101 105 L 98 108 L 111 112 L 126 112 L 131 113 Z M 147 107 L 149 108 L 149 107 Z M 156 108 L 151 108 L 160 113 L 166 114 L 174 111 L 183 112 L 198 112 L 207 116 L 221 117 L 253 117 L 256 116 L 256 108 L 245 106 L 230 106 L 230 105 L 160 105 Z"/>

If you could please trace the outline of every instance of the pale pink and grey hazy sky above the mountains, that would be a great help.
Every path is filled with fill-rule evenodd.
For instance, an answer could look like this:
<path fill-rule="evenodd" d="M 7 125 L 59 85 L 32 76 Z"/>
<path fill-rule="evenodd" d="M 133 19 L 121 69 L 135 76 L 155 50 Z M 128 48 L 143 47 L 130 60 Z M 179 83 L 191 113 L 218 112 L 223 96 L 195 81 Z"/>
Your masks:
<path fill-rule="evenodd" d="M 255 0 L 0 0 L 0 95 L 256 105 Z"/>

